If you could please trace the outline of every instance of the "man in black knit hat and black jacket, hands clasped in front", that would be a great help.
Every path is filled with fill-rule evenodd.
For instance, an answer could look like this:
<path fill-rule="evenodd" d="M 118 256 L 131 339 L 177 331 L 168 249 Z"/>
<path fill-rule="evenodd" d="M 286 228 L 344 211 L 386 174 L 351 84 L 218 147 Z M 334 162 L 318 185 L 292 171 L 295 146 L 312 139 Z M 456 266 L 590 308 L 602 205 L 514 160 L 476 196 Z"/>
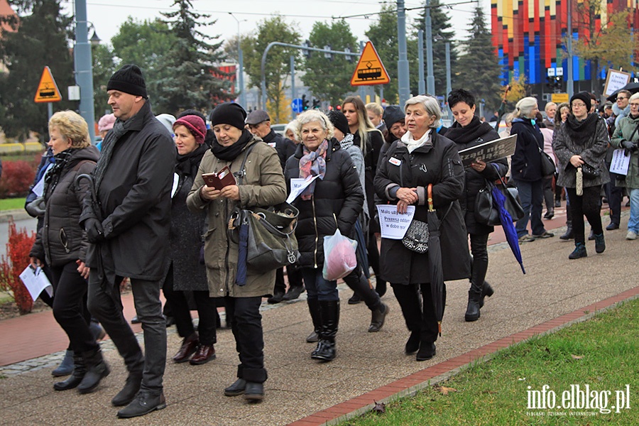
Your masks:
<path fill-rule="evenodd" d="M 153 116 L 137 65 L 116 71 L 107 94 L 117 120 L 102 143 L 93 191 L 84 200 L 80 223 L 92 243 L 87 253 L 89 310 L 129 370 L 124 388 L 111 403 L 126 405 L 118 417 L 136 417 L 166 406 L 160 279 L 167 259 L 175 144 Z M 119 288 L 124 277 L 131 279 L 146 356 L 122 315 Z"/>

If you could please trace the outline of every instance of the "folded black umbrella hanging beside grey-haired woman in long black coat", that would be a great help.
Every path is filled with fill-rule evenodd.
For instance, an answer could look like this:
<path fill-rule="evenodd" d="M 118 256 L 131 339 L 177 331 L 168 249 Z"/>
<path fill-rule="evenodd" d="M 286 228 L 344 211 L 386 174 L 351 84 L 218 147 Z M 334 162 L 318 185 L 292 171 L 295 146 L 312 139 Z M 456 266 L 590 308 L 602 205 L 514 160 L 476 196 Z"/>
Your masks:
<path fill-rule="evenodd" d="M 428 263 L 430 264 L 430 292 L 432 305 L 437 317 L 439 336 L 442 335 L 442 317 L 444 317 L 444 271 L 442 269 L 442 247 L 439 245 L 439 217 L 432 205 L 432 183 L 427 188 L 428 195 Z"/>

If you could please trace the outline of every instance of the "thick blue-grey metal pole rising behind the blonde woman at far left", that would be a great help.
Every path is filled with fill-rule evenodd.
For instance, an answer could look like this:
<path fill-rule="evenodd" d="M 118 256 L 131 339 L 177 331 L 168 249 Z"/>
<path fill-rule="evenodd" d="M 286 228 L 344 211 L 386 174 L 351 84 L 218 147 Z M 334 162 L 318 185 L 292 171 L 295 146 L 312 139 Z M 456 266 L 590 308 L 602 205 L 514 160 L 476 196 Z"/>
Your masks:
<path fill-rule="evenodd" d="M 93 68 L 91 44 L 87 26 L 87 0 L 75 1 L 75 81 L 80 86 L 80 115 L 89 125 L 89 138 L 95 141 L 95 112 L 93 110 Z"/>

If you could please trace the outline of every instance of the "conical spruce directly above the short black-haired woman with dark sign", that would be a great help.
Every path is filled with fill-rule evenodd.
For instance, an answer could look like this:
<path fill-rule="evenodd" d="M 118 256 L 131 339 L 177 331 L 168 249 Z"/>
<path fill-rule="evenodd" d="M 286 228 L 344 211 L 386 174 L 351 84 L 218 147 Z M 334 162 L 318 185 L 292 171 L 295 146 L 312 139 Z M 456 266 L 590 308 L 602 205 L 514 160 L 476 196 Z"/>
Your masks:
<path fill-rule="evenodd" d="M 459 77 L 453 89 L 469 89 L 478 104 L 484 99 L 488 109 L 496 110 L 501 105 L 502 69 L 481 7 L 475 9 L 469 34 L 468 40 L 461 43 L 464 52 L 459 57 Z"/>

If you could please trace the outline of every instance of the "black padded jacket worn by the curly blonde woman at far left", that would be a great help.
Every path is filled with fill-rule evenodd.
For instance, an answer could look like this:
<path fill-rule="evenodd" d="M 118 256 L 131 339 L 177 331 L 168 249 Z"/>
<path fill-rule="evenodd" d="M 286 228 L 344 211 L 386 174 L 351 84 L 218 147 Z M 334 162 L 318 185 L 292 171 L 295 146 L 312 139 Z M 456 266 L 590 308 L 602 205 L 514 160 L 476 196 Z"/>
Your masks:
<path fill-rule="evenodd" d="M 48 187 L 43 226 L 29 256 L 50 266 L 85 260 L 88 241 L 79 220 L 89 182 L 82 180 L 78 188 L 75 178 L 83 173 L 92 173 L 99 155 L 94 146 L 75 151 L 62 170 L 57 185 Z"/>

